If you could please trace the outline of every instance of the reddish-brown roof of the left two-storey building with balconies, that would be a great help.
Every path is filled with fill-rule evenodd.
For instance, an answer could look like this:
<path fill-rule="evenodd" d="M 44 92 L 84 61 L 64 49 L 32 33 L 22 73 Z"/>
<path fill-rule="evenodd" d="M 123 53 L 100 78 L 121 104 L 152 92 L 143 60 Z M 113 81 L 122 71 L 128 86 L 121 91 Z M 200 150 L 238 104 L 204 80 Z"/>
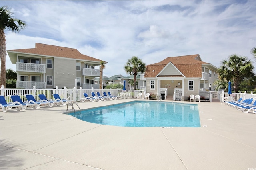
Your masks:
<path fill-rule="evenodd" d="M 86 61 L 96 61 L 96 62 L 102 61 L 100 59 L 96 59 L 88 55 L 83 55 L 77 49 L 60 47 L 55 45 L 47 45 L 47 44 L 41 44 L 41 43 L 36 43 L 35 48 L 31 48 L 31 49 L 8 50 L 8 54 L 9 53 L 29 53 L 34 55 L 44 55 L 44 56 L 50 56 L 50 57 L 65 57 L 70 59 L 86 60 Z M 104 63 L 107 63 L 107 62 L 104 61 Z"/>

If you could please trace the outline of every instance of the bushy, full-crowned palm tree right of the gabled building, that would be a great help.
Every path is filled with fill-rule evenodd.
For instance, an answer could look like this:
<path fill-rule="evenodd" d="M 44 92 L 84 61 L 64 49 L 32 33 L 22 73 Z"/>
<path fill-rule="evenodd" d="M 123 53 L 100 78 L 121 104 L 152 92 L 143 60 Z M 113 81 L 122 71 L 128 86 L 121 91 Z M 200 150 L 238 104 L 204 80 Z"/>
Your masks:
<path fill-rule="evenodd" d="M 234 84 L 235 92 L 238 92 L 239 84 L 244 78 L 254 76 L 252 61 L 247 57 L 230 55 L 228 60 L 222 61 L 222 66 L 218 69 L 219 78 L 228 83 L 231 80 Z"/>

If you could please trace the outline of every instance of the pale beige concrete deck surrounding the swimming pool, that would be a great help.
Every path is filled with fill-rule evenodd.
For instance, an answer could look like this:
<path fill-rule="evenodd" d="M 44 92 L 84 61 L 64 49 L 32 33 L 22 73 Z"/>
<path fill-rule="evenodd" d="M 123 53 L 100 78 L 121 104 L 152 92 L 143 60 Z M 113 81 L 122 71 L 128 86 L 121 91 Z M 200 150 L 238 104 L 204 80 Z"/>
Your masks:
<path fill-rule="evenodd" d="M 196 104 L 201 127 L 98 125 L 62 114 L 66 106 L 0 111 L 0 169 L 256 170 L 256 114 Z"/>

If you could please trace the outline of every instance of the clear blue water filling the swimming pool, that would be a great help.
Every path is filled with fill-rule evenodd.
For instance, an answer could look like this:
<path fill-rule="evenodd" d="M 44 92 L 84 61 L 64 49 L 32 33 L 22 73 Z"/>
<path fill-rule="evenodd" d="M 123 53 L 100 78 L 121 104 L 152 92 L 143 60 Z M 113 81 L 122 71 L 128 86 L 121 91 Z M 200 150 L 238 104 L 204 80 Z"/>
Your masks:
<path fill-rule="evenodd" d="M 134 101 L 70 113 L 83 121 L 125 127 L 200 127 L 198 105 Z"/>

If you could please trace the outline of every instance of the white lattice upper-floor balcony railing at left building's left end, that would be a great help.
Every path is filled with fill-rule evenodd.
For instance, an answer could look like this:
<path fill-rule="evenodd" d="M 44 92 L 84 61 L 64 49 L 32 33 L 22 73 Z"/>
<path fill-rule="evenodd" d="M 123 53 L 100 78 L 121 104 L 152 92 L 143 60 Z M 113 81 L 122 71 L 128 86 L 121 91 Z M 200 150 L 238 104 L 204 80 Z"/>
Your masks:
<path fill-rule="evenodd" d="M 16 62 L 17 71 L 45 73 L 45 64 L 20 63 Z"/>

